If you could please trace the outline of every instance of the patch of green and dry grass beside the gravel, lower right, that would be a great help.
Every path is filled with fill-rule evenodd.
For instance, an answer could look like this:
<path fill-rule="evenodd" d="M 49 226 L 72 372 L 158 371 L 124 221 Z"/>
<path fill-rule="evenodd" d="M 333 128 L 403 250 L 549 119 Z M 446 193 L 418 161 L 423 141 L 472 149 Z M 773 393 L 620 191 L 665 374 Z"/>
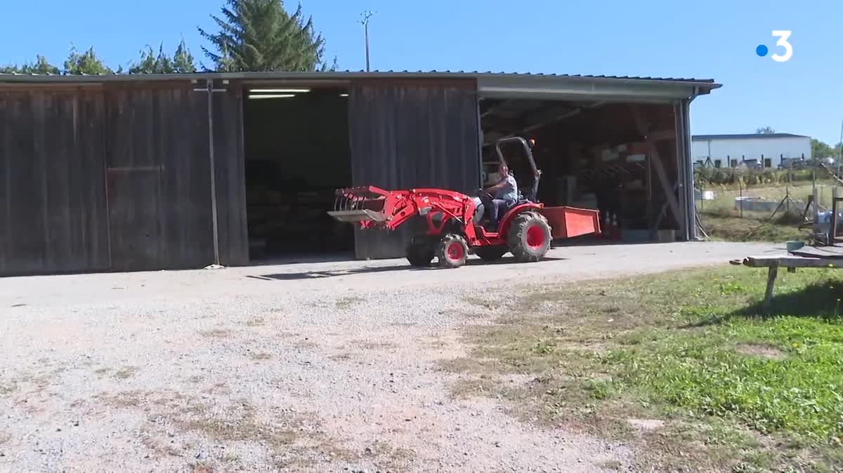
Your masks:
<path fill-rule="evenodd" d="M 641 468 L 843 469 L 843 273 L 780 274 L 770 316 L 764 290 L 765 271 L 731 267 L 524 288 L 449 366 L 483 376 L 460 396 L 640 442 Z M 665 426 L 636 433 L 642 418 Z"/>

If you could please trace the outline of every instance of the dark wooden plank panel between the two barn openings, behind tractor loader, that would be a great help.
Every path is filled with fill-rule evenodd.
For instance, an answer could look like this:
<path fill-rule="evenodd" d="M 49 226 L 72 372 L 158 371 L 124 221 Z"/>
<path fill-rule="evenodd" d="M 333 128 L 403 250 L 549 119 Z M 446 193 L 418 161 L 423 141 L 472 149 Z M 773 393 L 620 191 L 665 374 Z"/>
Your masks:
<path fill-rule="evenodd" d="M 353 82 L 349 138 L 354 185 L 472 193 L 481 181 L 477 118 L 473 80 Z M 393 233 L 356 231 L 356 256 L 403 257 L 413 231 L 410 223 Z"/>

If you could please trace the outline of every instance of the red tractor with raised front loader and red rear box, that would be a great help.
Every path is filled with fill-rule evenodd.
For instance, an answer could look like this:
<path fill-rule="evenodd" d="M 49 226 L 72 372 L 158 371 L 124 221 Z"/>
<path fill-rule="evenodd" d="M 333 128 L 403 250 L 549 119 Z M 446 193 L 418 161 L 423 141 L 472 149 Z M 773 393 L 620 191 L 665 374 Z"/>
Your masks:
<path fill-rule="evenodd" d="M 532 183 L 526 186 L 528 194 L 519 193 L 513 205 L 499 210 L 502 216 L 497 228 L 488 226 L 484 202 L 491 196 L 482 190 L 470 197 L 444 189 L 337 189 L 335 210 L 328 213 L 363 229 L 385 231 L 395 230 L 416 215 L 425 217 L 427 232 L 413 237 L 406 247 L 405 256 L 412 266 L 428 266 L 436 258 L 440 267 L 459 268 L 471 253 L 486 261 L 500 259 L 507 252 L 518 262 L 539 261 L 555 239 L 599 233 L 597 210 L 545 207 L 538 202 L 541 172 L 535 167 L 530 146 L 520 137 L 497 141 L 497 157 L 507 166 L 501 150 L 507 143 L 523 147 L 532 174 L 527 178 Z"/>

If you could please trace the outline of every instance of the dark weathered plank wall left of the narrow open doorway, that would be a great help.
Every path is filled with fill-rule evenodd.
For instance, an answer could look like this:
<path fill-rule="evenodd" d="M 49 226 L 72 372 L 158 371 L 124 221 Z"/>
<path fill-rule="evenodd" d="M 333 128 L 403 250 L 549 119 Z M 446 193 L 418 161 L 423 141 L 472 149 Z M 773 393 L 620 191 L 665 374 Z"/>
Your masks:
<path fill-rule="evenodd" d="M 220 263 L 248 263 L 240 92 L 214 93 Z M 214 262 L 207 94 L 0 90 L 0 274 Z"/>

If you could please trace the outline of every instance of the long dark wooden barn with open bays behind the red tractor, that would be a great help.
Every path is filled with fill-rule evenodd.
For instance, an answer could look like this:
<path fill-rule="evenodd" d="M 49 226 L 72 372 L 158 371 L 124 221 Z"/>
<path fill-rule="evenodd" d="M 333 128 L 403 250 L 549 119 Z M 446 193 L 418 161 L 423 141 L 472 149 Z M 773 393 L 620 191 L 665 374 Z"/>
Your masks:
<path fill-rule="evenodd" d="M 309 174 L 325 171 L 324 165 L 306 167 L 326 146 L 336 156 L 338 177 L 324 186 L 435 186 L 470 193 L 481 185 L 489 136 L 534 132 L 541 120 L 558 122 L 564 110 L 577 110 L 582 130 L 546 131 L 556 137 L 548 143 L 582 140 L 593 129 L 589 123 L 618 130 L 589 137 L 588 146 L 652 140 L 652 150 L 663 158 L 657 156 L 655 167 L 647 163 L 655 196 L 646 200 L 652 208 L 639 220 L 653 228 L 667 225 L 680 239 L 690 239 L 688 107 L 695 96 L 717 87 L 697 79 L 476 72 L 0 75 L 0 274 L 244 265 L 258 258 L 252 247 L 259 241 L 264 247 L 277 242 L 282 249 L 319 241 L 349 248 L 356 258 L 399 257 L 406 232 L 355 232 L 346 238 L 321 217 L 293 221 L 293 214 L 272 209 L 292 204 L 313 215 L 328 210 L 319 199 L 330 195 L 305 182 Z M 293 88 L 306 93 L 255 92 Z M 290 131 L 287 142 L 295 141 L 295 153 L 277 142 L 296 124 L 260 128 L 281 123 L 273 120 L 282 115 L 304 116 L 318 98 L 346 112 L 322 120 L 317 127 L 324 128 L 312 136 L 303 136 L 301 128 Z M 520 111 L 512 115 L 516 105 Z M 612 125 L 619 120 L 601 119 L 599 114 L 608 113 L 601 107 L 615 107 L 614 114 L 629 111 L 624 130 Z M 568 153 L 561 146 L 548 152 L 559 160 Z M 260 196 L 252 199 L 247 171 L 261 159 L 295 174 L 303 187 L 269 204 Z M 587 177 L 591 167 L 539 159 L 545 159 L 540 166 L 581 176 L 584 189 L 599 186 Z M 278 192 L 290 189 L 293 184 L 285 184 Z M 275 233 L 255 233 L 273 218 Z M 324 239 L 326 231 L 336 232 L 336 241 Z"/>

